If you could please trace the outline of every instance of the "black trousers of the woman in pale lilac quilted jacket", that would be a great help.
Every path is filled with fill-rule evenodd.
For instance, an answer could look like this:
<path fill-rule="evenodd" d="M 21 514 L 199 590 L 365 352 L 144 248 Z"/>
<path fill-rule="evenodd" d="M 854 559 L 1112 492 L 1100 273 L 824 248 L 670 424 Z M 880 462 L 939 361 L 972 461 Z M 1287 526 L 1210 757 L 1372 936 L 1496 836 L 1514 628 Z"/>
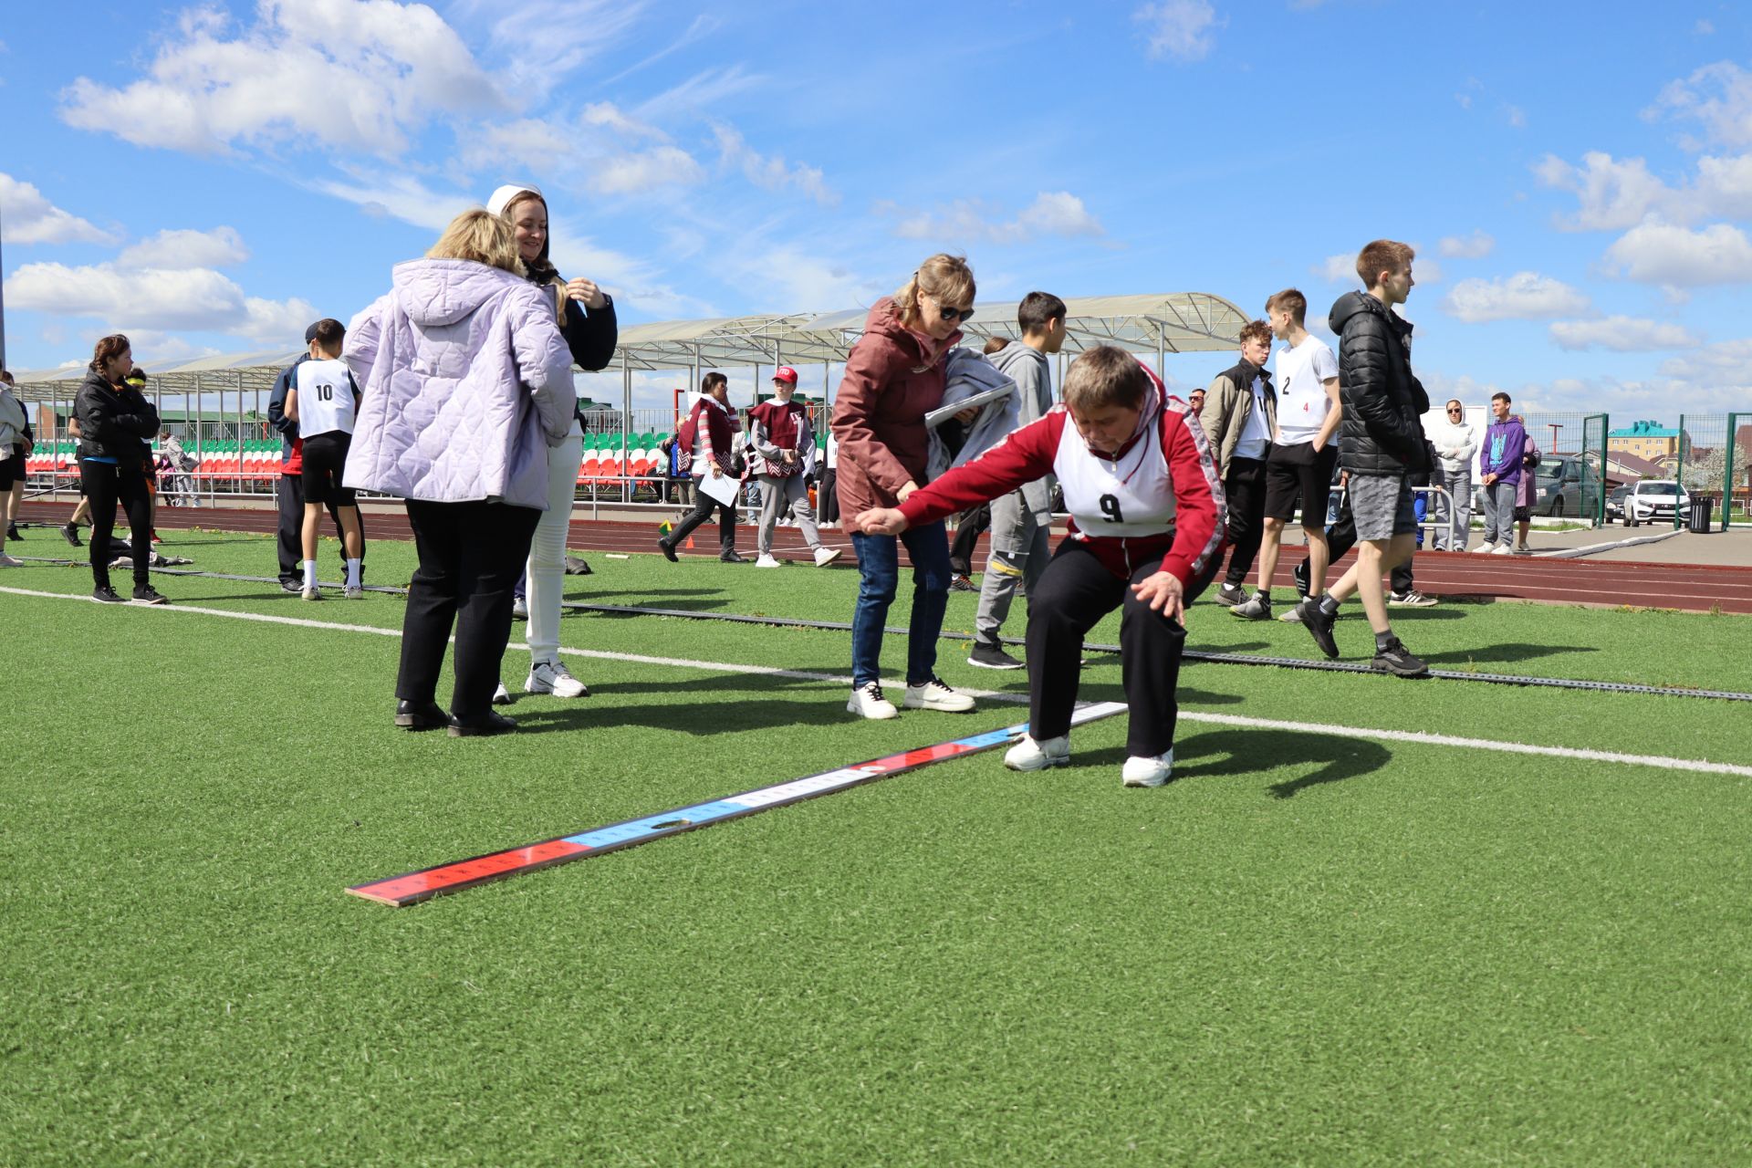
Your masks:
<path fill-rule="evenodd" d="M 512 585 L 529 559 L 541 511 L 503 503 L 408 499 L 408 525 L 420 566 L 408 583 L 401 620 L 396 697 L 429 702 L 456 622 L 456 685 L 450 713 L 478 718 L 492 709 L 505 644 L 512 639 Z"/>

